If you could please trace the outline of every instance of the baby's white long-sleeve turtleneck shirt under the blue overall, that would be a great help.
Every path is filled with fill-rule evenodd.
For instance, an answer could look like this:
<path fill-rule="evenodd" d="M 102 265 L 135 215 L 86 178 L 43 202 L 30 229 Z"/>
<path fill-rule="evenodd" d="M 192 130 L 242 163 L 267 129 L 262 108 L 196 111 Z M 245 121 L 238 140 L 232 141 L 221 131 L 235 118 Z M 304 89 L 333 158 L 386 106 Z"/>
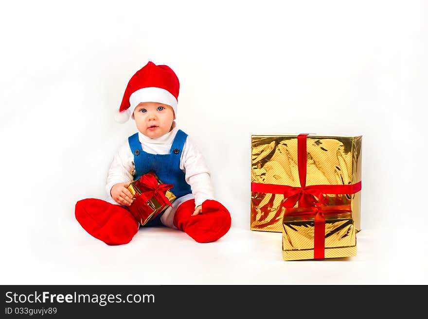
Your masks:
<path fill-rule="evenodd" d="M 150 138 L 140 132 L 138 133 L 138 138 L 145 152 L 151 154 L 168 154 L 177 131 L 178 128 L 174 122 L 171 132 L 159 138 Z M 181 152 L 180 169 L 185 173 L 186 182 L 192 189 L 195 206 L 201 205 L 205 200 L 215 200 L 210 171 L 205 164 L 202 154 L 189 136 L 187 136 L 183 151 Z M 117 183 L 132 182 L 134 173 L 134 154 L 126 139 L 126 143 L 114 155 L 108 170 L 106 191 L 109 202 L 115 203 L 110 195 L 111 187 Z M 188 195 L 183 196 L 183 199 L 184 197 L 186 199 L 189 198 Z M 180 203 L 183 199 L 176 199 L 176 202 Z M 173 206 L 175 206 L 174 203 Z"/>

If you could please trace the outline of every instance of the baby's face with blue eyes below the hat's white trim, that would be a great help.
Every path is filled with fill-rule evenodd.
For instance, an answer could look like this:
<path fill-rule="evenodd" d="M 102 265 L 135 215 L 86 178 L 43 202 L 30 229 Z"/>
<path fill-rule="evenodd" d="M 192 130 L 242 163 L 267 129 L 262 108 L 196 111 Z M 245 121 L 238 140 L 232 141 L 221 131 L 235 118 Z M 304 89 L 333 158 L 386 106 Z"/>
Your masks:
<path fill-rule="evenodd" d="M 170 105 L 142 102 L 135 107 L 134 118 L 142 134 L 150 138 L 158 138 L 171 131 L 175 116 Z"/>

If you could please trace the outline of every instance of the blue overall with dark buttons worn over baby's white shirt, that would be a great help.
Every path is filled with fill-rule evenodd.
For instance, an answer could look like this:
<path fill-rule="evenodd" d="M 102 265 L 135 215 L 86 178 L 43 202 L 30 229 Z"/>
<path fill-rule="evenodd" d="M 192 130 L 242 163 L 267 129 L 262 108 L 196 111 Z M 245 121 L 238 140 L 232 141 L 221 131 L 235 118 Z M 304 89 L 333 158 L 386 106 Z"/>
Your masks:
<path fill-rule="evenodd" d="M 140 140 L 138 139 L 138 133 L 129 136 L 129 147 L 134 154 L 134 180 L 139 179 L 149 171 L 154 171 L 163 184 L 174 185 L 171 191 L 177 198 L 191 194 L 192 189 L 190 185 L 186 183 L 185 174 L 180 169 L 180 157 L 186 139 L 187 134 L 178 130 L 171 145 L 171 149 L 169 150 L 169 154 L 151 154 L 143 150 Z M 162 216 L 162 214 L 163 212 L 144 226 L 161 225 L 160 216 Z"/>

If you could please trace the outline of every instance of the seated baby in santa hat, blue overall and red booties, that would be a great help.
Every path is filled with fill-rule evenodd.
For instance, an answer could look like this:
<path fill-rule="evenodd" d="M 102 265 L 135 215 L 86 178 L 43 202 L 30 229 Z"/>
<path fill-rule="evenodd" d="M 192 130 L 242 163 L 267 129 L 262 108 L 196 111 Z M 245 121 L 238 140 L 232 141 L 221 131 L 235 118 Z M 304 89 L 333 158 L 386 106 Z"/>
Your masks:
<path fill-rule="evenodd" d="M 175 122 L 179 81 L 165 65 L 148 62 L 129 80 L 116 120 L 135 120 L 129 136 L 113 158 L 107 177 L 107 201 L 84 199 L 75 217 L 92 236 L 108 245 L 131 241 L 140 222 L 127 209 L 130 182 L 154 171 L 176 200 L 143 227 L 164 225 L 184 231 L 200 243 L 212 242 L 231 227 L 229 211 L 214 198 L 210 172 L 202 154 Z"/>

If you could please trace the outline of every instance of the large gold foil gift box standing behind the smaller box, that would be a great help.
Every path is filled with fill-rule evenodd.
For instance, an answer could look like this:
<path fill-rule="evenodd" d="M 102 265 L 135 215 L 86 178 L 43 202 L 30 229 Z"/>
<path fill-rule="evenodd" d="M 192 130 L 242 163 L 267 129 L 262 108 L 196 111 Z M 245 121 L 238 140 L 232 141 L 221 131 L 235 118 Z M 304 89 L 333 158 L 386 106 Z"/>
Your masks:
<path fill-rule="evenodd" d="M 251 135 L 250 229 L 282 232 L 286 204 L 293 202 L 294 198 L 297 200 L 292 207 L 303 207 L 300 196 L 309 198 L 312 193 L 317 201 L 324 201 L 323 205 L 351 205 L 358 232 L 361 142 L 361 135 Z M 305 176 L 300 176 L 299 171 L 306 171 Z M 302 180 L 305 185 L 301 185 Z M 332 188 L 337 188 L 335 185 L 340 186 L 341 191 L 335 189 L 334 193 L 328 193 Z M 296 193 L 299 189 L 303 192 L 288 200 L 285 190 Z M 319 192 L 314 189 L 321 189 L 323 195 L 318 195 Z M 285 200 L 288 200 L 286 204 Z"/>

